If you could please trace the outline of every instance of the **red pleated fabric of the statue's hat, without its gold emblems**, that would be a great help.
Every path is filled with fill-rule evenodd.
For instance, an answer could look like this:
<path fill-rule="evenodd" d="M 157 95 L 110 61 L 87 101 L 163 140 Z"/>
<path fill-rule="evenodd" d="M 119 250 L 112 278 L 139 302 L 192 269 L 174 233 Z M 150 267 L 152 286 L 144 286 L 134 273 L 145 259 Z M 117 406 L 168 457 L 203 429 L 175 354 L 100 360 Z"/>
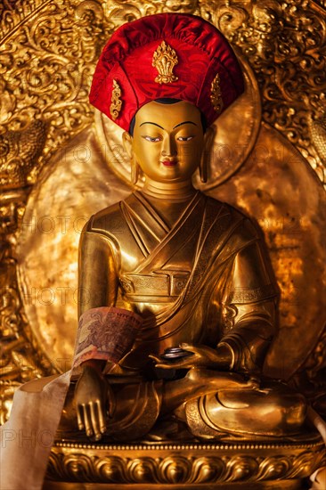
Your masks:
<path fill-rule="evenodd" d="M 177 55 L 173 73 L 178 79 L 159 84 L 152 59 L 163 40 Z M 192 102 L 204 113 L 209 126 L 219 115 L 210 99 L 217 73 L 224 110 L 243 92 L 239 62 L 224 36 L 194 15 L 150 15 L 122 25 L 110 37 L 94 72 L 90 102 L 112 119 L 110 103 L 116 80 L 122 105 L 115 122 L 126 131 L 138 109 L 161 97 Z"/>

